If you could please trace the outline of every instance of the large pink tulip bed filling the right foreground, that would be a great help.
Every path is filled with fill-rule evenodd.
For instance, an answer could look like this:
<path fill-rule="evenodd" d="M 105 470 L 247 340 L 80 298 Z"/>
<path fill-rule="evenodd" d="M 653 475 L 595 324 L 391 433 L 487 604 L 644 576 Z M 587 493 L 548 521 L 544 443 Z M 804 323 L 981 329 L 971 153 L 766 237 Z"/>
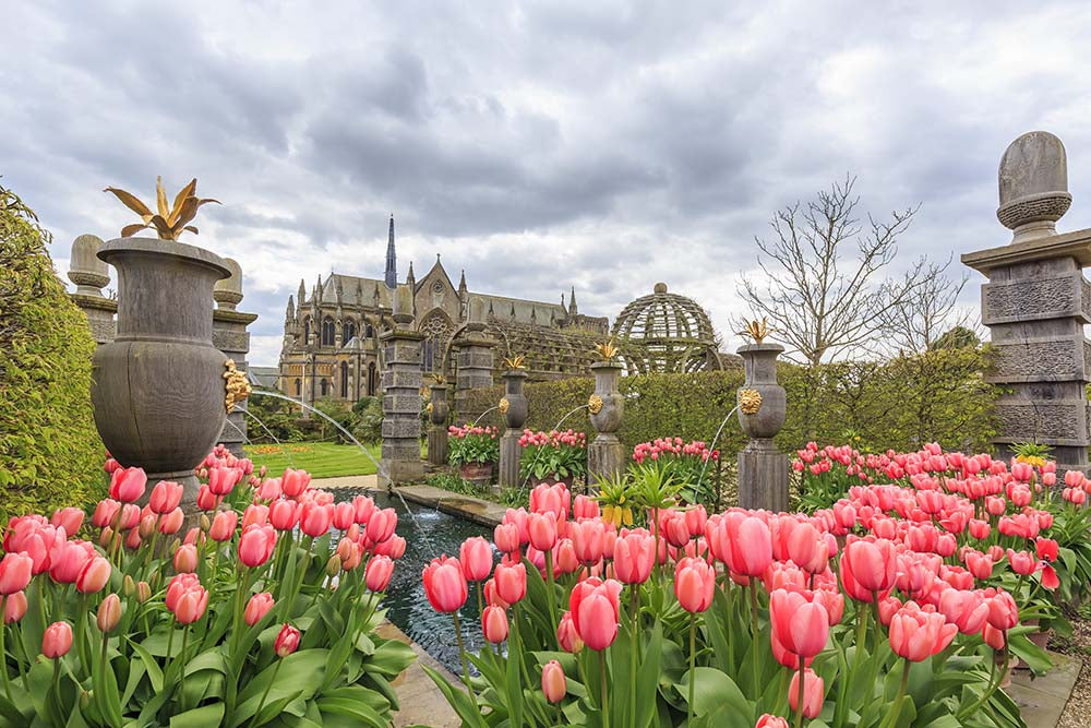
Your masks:
<path fill-rule="evenodd" d="M 1028 634 L 1071 571 L 1057 514 L 1086 544 L 1087 511 L 1034 487 L 1044 461 L 898 460 L 915 472 L 871 473 L 812 514 L 707 515 L 638 469 L 634 527 L 539 486 L 496 527 L 499 563 L 470 539 L 425 568 L 456 629 L 477 592 L 491 645 L 463 651 L 468 692 L 433 680 L 475 728 L 1022 726 L 1000 684 L 1017 659 L 1050 668 Z"/>

